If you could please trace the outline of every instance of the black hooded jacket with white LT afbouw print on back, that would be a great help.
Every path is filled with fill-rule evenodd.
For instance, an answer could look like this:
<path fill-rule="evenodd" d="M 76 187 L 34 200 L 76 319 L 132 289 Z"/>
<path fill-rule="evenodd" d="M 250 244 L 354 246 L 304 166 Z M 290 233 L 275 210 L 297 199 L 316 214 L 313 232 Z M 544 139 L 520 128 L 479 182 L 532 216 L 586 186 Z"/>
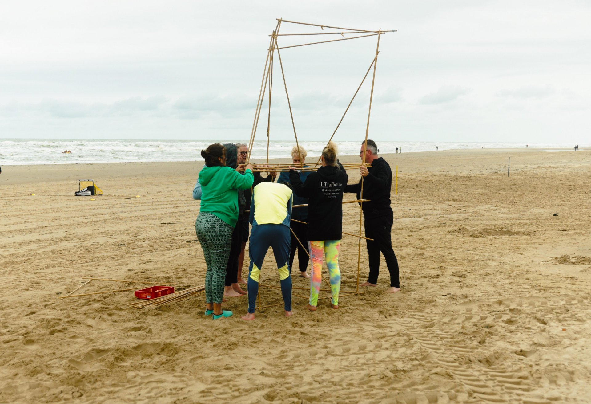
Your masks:
<path fill-rule="evenodd" d="M 347 179 L 345 171 L 335 166 L 319 167 L 304 183 L 296 170 L 290 170 L 294 193 L 309 198 L 307 237 L 310 241 L 342 238 L 343 191 Z"/>

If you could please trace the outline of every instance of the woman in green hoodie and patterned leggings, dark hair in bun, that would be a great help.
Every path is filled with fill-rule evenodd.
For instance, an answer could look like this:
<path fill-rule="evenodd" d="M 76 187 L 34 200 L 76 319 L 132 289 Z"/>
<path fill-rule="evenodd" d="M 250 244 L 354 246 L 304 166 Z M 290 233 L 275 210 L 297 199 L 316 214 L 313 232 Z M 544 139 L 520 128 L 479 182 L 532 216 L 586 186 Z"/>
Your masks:
<path fill-rule="evenodd" d="M 251 188 L 254 182 L 252 165 L 236 169 L 226 167 L 226 149 L 219 143 L 201 151 L 205 166 L 199 172 L 201 208 L 195 221 L 197 239 L 207 264 L 205 275 L 206 315 L 230 317 L 232 311 L 222 310 L 226 264 L 232 245 L 232 231 L 238 221 L 238 189 Z"/>

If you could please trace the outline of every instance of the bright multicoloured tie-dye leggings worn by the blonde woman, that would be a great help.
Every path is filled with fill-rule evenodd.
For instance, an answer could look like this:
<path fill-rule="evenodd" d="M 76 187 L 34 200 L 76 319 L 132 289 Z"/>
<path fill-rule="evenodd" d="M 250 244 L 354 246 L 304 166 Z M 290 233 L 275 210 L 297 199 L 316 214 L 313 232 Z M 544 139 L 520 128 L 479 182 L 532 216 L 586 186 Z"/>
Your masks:
<path fill-rule="evenodd" d="M 339 304 L 340 271 L 339 248 L 340 240 L 309 241 L 310 256 L 312 258 L 312 276 L 310 277 L 310 306 L 316 307 L 318 292 L 322 283 L 322 255 L 326 257 L 326 267 L 329 268 L 330 293 L 332 304 Z"/>

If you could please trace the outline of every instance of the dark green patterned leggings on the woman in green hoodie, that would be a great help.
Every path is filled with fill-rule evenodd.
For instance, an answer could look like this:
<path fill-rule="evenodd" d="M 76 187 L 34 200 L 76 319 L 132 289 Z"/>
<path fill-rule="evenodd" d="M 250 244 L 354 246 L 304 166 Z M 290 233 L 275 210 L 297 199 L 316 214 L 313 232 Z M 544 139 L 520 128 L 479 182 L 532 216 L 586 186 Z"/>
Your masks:
<path fill-rule="evenodd" d="M 222 303 L 233 229 L 216 215 L 207 212 L 199 212 L 195 221 L 195 232 L 207 264 L 205 303 Z"/>

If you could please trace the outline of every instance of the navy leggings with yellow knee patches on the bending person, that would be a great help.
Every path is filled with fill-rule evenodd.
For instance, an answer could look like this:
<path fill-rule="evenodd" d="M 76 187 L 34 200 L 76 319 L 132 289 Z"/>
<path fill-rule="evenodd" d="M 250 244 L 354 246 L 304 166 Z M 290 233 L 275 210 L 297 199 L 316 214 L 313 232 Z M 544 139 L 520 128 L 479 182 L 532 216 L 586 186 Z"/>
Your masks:
<path fill-rule="evenodd" d="M 277 262 L 284 308 L 291 311 L 290 228 L 282 224 L 264 224 L 252 226 L 248 245 L 251 259 L 248 267 L 248 313 L 255 312 L 262 262 L 269 247 L 273 249 Z"/>

